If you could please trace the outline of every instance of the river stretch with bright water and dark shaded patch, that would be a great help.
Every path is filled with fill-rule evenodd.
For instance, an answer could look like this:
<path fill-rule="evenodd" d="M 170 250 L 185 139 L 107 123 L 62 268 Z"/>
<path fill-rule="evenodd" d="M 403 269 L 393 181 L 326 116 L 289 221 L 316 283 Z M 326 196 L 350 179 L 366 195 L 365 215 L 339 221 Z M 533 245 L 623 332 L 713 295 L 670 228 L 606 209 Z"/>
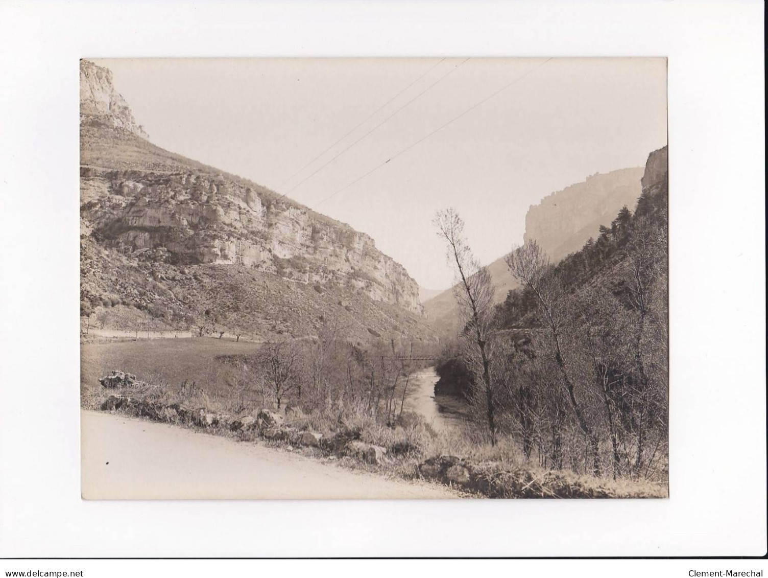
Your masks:
<path fill-rule="evenodd" d="M 434 367 L 411 375 L 406 393 L 406 410 L 425 417 L 436 431 L 447 431 L 467 423 L 467 405 L 452 395 L 435 395 L 439 380 Z"/>

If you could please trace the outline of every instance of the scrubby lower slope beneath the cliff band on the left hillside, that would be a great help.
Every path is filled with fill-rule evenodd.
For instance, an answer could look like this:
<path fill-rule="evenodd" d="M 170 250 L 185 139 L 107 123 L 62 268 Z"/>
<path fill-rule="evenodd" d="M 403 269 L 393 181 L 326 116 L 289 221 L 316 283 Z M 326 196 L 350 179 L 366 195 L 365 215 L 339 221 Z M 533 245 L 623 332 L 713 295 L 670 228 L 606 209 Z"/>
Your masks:
<path fill-rule="evenodd" d="M 288 260 L 286 260 L 288 261 Z M 247 338 L 312 337 L 333 318 L 346 339 L 434 340 L 418 314 L 372 301 L 349 284 L 297 283 L 240 265 L 174 265 L 81 240 L 81 315 L 91 327 L 221 332 Z"/>

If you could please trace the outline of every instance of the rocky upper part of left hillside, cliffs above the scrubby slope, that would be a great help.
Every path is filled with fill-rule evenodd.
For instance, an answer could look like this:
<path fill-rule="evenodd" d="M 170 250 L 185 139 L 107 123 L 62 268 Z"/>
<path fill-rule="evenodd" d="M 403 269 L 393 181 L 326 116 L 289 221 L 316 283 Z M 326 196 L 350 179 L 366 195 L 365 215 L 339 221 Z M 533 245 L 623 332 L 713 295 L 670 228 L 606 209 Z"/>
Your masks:
<path fill-rule="evenodd" d="M 81 126 L 93 122 L 142 134 L 111 73 L 81 61 Z M 349 225 L 120 130 L 83 129 L 81 142 L 81 231 L 107 247 L 171 264 L 237 264 L 296 283 L 348 286 L 422 311 L 406 269 Z M 130 168 L 125 158 L 112 162 L 111 151 L 130 151 Z"/>

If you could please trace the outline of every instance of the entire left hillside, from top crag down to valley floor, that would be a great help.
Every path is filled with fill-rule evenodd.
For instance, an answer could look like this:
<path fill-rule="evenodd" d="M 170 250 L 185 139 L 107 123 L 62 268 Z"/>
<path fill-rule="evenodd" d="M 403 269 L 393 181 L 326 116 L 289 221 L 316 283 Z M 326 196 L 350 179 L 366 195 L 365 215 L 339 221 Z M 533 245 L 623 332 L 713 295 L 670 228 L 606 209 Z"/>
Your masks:
<path fill-rule="evenodd" d="M 175 327 L 204 316 L 211 326 L 250 324 L 250 331 L 300 336 L 323 321 L 315 297 L 333 296 L 345 312 L 339 315 L 357 314 L 347 321 L 360 339 L 407 328 L 416 337 L 432 335 L 418 285 L 368 235 L 145 137 L 111 73 L 81 61 L 85 309 L 120 304 L 125 311 L 112 316 L 119 324 L 148 311 Z M 238 311 L 236 299 L 220 298 L 234 285 L 230 294 L 244 291 L 260 301 L 260 282 L 270 278 L 283 290 L 258 311 Z M 189 287 L 187 279 L 194 280 Z M 303 305 L 312 322 L 299 321 Z"/>

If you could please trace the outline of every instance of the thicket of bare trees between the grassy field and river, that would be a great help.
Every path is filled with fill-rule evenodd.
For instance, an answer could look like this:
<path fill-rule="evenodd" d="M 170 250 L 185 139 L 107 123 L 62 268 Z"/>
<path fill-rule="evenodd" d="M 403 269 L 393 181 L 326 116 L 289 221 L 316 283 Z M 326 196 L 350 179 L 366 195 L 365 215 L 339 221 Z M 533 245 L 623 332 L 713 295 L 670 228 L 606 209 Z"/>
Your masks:
<path fill-rule="evenodd" d="M 268 340 L 253 354 L 219 360 L 234 368 L 230 385 L 242 400 L 238 410 L 271 405 L 393 425 L 402 417 L 412 374 L 429 364 L 412 357 L 433 354 L 434 348 L 403 337 L 352 344 L 344 327 L 327 320 L 316 337 Z"/>

